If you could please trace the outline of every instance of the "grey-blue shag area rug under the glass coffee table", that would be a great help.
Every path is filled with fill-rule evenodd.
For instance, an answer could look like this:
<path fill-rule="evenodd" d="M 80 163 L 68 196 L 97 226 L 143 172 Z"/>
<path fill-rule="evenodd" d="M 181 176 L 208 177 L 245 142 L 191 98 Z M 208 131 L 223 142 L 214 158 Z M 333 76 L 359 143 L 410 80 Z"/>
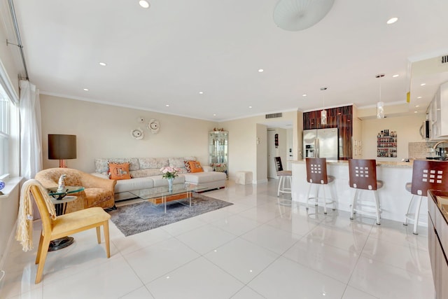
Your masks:
<path fill-rule="evenodd" d="M 191 207 L 188 205 L 188 200 L 182 202 L 183 204 L 168 202 L 166 214 L 163 204 L 155 205 L 147 201 L 117 207 L 116 210 L 109 211 L 109 214 L 111 221 L 127 237 L 232 204 L 198 193 L 193 193 Z"/>

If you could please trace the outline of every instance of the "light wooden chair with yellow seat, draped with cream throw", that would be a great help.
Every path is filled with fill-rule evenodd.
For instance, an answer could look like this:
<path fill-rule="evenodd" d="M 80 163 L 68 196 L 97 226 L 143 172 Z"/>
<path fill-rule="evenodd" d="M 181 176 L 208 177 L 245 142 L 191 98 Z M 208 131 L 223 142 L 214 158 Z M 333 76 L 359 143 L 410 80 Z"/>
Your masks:
<path fill-rule="evenodd" d="M 55 220 L 53 220 L 50 218 L 50 212 L 47 207 L 48 203 L 44 199 L 45 195 L 41 193 L 41 189 L 38 185 L 31 185 L 29 190 L 34 197 L 42 219 L 41 239 L 39 240 L 36 255 L 36 264 L 38 264 L 36 284 L 42 280 L 43 266 L 45 265 L 48 245 L 51 240 L 66 237 L 68 235 L 75 234 L 76 232 L 82 232 L 83 230 L 89 230 L 90 228 L 96 228 L 97 241 L 98 244 L 100 244 L 100 226 L 102 226 L 104 230 L 104 243 L 106 244 L 106 256 L 107 258 L 111 256 L 109 244 L 109 218 L 111 218 L 111 216 L 107 214 L 106 211 L 100 207 L 92 207 L 57 216 Z M 61 263 L 63 262 L 64 261 L 61 260 Z"/>

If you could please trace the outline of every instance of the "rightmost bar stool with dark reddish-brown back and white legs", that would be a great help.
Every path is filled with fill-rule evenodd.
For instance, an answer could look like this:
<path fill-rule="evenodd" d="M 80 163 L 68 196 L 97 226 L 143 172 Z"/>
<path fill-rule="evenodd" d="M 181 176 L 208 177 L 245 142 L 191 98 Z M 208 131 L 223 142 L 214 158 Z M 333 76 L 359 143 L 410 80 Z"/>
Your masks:
<path fill-rule="evenodd" d="M 428 190 L 448 190 L 448 162 L 414 160 L 412 182 L 406 183 L 406 190 L 412 193 L 409 207 L 405 214 L 405 223 L 414 221 L 414 235 L 418 235 L 421 200 L 427 197 Z M 414 211 L 411 211 L 414 207 Z M 409 213 L 411 212 L 411 213 Z"/>

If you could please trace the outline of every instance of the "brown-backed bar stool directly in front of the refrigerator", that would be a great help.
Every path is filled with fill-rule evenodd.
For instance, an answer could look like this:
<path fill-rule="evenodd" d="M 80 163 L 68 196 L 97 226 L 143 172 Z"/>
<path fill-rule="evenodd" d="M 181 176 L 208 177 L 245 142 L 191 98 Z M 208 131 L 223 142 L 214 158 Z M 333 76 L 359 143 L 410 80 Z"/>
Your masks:
<path fill-rule="evenodd" d="M 325 197 L 325 185 L 328 186 L 328 183 L 332 183 L 335 181 L 334 176 L 327 175 L 327 159 L 325 158 L 306 158 L 305 162 L 307 164 L 307 182 L 309 183 L 308 194 L 307 194 L 307 209 L 309 200 L 314 200 L 314 205 L 318 206 L 318 199 L 321 198 L 323 200 L 323 214 L 327 214 L 327 204 L 332 204 L 332 210 L 336 209 L 336 202 L 332 198 L 330 191 L 330 198 Z M 310 197 L 309 193 L 311 193 L 311 186 L 315 186 L 316 194 L 314 197 Z M 322 187 L 323 197 L 319 197 L 319 189 Z"/>

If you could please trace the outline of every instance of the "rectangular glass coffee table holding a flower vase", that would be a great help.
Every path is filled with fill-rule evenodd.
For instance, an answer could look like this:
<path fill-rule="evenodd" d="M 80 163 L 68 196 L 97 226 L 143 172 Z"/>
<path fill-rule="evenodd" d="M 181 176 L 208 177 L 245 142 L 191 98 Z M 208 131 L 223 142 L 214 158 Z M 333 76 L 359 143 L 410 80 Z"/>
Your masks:
<path fill-rule="evenodd" d="M 156 198 L 161 198 L 162 200 L 160 204 L 164 204 L 165 213 L 167 213 L 167 202 L 172 201 L 180 202 L 181 200 L 188 200 L 190 202 L 191 207 L 191 195 L 193 191 L 200 191 L 204 189 L 207 189 L 207 187 L 200 185 L 175 184 L 173 185 L 172 191 L 168 190 L 168 186 L 160 186 L 149 189 L 134 190 L 130 191 L 130 193 L 136 195 L 142 200 L 148 200 L 148 201 L 151 201 Z M 185 195 L 185 197 L 179 198 L 178 196 L 174 195 Z M 155 200 L 151 202 L 153 202 L 153 204 L 158 204 L 158 202 Z"/>

